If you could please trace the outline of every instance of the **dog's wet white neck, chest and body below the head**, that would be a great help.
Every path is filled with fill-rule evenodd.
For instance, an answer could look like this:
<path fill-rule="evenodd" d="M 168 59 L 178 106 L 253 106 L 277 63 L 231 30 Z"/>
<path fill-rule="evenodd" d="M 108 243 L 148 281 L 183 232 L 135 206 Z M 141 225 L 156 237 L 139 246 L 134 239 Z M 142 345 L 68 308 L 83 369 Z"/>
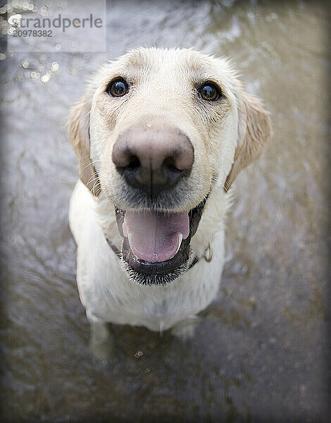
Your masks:
<path fill-rule="evenodd" d="M 69 221 L 77 243 L 77 285 L 89 320 L 163 331 L 192 319 L 218 292 L 224 260 L 225 210 L 225 194 L 215 190 L 192 238 L 192 252 L 198 257 L 213 238 L 211 262 L 201 258 L 168 285 L 141 286 L 127 278 L 106 241 L 108 236 L 120 245 L 113 204 L 104 195 L 94 197 L 78 180 L 70 201 Z"/>

